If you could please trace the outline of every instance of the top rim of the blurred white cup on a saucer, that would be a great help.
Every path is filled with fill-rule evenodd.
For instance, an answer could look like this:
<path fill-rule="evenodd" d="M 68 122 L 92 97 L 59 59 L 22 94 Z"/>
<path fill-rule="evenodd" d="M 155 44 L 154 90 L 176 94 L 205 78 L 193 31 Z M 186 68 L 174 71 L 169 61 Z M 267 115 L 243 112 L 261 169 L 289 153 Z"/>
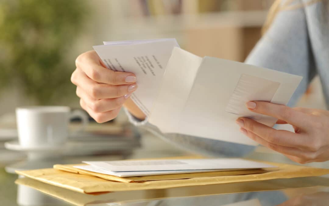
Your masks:
<path fill-rule="evenodd" d="M 25 111 L 33 113 L 59 113 L 70 112 L 69 106 L 22 106 L 17 107 L 16 112 Z"/>

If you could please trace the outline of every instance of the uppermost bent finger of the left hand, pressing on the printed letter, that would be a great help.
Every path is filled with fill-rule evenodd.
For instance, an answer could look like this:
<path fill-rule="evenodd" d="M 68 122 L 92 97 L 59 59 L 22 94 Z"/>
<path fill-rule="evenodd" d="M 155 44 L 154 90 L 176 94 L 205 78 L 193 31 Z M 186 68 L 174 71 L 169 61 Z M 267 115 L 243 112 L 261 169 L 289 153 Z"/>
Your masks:
<path fill-rule="evenodd" d="M 135 74 L 115 72 L 102 65 L 102 61 L 95 51 L 85 52 L 76 59 L 76 66 L 87 74 L 90 79 L 99 83 L 122 85 L 136 82 Z"/>

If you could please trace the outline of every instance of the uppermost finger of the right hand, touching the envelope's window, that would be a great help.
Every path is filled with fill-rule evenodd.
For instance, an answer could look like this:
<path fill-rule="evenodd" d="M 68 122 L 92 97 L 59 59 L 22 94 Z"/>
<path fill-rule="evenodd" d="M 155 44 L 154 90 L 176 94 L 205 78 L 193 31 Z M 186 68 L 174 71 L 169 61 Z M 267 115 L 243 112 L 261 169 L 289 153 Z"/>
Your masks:
<path fill-rule="evenodd" d="M 283 104 L 253 101 L 246 103 L 246 106 L 252 112 L 275 117 L 294 126 L 304 126 L 307 119 L 307 114 Z"/>

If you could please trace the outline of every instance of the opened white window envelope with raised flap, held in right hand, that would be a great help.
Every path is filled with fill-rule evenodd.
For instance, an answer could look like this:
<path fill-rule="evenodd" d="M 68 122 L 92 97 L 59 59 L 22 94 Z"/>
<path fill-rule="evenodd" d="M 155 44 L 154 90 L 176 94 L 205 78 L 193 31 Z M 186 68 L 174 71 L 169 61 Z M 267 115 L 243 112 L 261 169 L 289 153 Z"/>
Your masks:
<path fill-rule="evenodd" d="M 187 55 L 183 49 L 175 48 L 166 73 L 190 69 L 175 67 L 184 56 L 194 58 L 193 61 L 198 59 Z M 156 123 L 155 125 L 164 133 L 188 134 L 247 145 L 257 143 L 240 133 L 239 126 L 235 123 L 238 117 L 251 117 L 270 127 L 275 124 L 276 119 L 249 111 L 245 103 L 260 100 L 287 104 L 302 79 L 301 76 L 240 62 L 204 57 L 198 72 L 193 73 L 193 86 L 186 92 L 188 96 L 173 99 L 173 85 L 168 79 L 183 77 L 179 72 L 173 72 L 168 76 L 166 73 L 158 95 L 170 103 L 165 105 L 157 101 L 153 108 L 153 111 L 157 112 L 151 114 L 150 123 Z M 179 115 L 174 114 L 173 118 L 172 108 L 180 111 Z M 164 117 L 172 121 L 164 122 Z"/>

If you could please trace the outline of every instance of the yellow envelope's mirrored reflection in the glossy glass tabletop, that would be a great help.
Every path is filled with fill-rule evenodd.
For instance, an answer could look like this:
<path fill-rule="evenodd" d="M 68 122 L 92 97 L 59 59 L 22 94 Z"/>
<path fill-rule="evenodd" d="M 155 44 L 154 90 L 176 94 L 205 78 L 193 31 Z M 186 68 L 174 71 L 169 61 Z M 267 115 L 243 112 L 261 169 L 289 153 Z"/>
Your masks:
<path fill-rule="evenodd" d="M 258 182 L 237 182 L 217 185 L 191 186 L 182 188 L 168 188 L 163 190 L 139 190 L 139 191 L 117 191 L 108 193 L 83 194 L 49 185 L 27 177 L 15 181 L 18 185 L 33 188 L 52 197 L 66 201 L 72 205 L 104 205 L 107 203 L 131 201 L 146 201 L 168 198 L 182 198 L 195 196 L 208 196 L 220 194 L 232 194 L 241 192 L 293 190 L 296 188 L 308 188 L 309 190 L 320 190 L 329 187 L 327 178 L 324 177 L 302 177 L 291 179 L 264 180 Z M 319 185 L 319 186 L 316 186 Z"/>

